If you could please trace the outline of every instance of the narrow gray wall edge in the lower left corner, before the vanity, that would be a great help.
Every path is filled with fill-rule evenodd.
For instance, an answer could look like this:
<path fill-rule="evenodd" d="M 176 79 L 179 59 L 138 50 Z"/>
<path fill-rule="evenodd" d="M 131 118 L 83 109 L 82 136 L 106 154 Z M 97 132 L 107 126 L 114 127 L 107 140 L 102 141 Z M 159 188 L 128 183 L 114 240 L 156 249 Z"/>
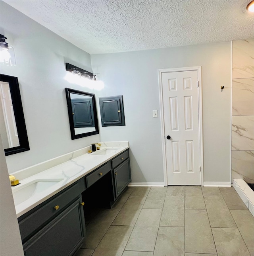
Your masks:
<path fill-rule="evenodd" d="M 2 130 L 1 130 L 2 131 Z M 0 135 L 0 255 L 24 255 Z"/>

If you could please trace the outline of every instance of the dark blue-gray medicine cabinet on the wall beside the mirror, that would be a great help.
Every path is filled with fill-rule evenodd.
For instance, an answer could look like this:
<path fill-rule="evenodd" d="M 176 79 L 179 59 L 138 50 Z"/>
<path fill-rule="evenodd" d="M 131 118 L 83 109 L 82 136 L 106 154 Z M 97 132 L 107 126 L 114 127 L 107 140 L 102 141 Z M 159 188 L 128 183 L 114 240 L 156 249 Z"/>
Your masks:
<path fill-rule="evenodd" d="M 125 125 L 123 96 L 100 97 L 102 126 Z"/>

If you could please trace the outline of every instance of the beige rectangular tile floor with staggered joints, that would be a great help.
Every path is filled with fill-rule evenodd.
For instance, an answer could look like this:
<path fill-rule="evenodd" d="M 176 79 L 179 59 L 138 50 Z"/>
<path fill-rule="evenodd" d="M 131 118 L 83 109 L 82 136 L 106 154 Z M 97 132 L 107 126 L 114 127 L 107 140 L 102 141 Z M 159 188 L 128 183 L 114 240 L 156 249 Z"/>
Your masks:
<path fill-rule="evenodd" d="M 78 256 L 254 255 L 254 217 L 234 188 L 127 188 L 89 216 Z"/>

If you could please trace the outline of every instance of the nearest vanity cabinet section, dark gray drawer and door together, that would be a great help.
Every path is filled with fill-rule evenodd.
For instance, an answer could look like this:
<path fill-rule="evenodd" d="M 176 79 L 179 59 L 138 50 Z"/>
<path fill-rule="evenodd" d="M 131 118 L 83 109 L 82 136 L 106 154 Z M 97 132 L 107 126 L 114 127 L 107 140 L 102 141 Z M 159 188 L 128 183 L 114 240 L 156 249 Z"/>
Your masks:
<path fill-rule="evenodd" d="M 85 237 L 79 184 L 38 205 L 18 221 L 25 256 L 74 254 Z"/>

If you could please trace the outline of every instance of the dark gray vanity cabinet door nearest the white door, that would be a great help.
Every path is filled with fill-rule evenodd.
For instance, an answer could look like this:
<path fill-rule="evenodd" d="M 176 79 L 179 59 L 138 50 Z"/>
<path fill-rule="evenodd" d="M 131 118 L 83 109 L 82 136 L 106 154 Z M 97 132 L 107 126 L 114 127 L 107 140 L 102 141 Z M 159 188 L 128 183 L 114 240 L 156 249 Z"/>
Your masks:
<path fill-rule="evenodd" d="M 117 168 L 114 169 L 115 176 L 115 192 L 116 197 L 120 195 L 124 188 L 131 181 L 131 170 L 130 170 L 130 161 L 127 159 L 125 162 L 120 164 Z"/>

